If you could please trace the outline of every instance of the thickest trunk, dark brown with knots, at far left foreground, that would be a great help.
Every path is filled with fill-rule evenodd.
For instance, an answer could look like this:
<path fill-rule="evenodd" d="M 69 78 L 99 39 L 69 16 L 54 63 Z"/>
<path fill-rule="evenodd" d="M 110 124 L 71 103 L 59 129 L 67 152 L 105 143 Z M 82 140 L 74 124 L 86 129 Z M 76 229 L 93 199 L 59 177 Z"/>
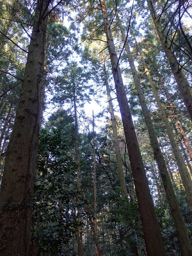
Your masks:
<path fill-rule="evenodd" d="M 30 251 L 32 196 L 36 176 L 42 105 L 47 1 L 38 1 L 22 90 L 8 145 L 0 189 L 0 255 L 26 256 Z"/>

